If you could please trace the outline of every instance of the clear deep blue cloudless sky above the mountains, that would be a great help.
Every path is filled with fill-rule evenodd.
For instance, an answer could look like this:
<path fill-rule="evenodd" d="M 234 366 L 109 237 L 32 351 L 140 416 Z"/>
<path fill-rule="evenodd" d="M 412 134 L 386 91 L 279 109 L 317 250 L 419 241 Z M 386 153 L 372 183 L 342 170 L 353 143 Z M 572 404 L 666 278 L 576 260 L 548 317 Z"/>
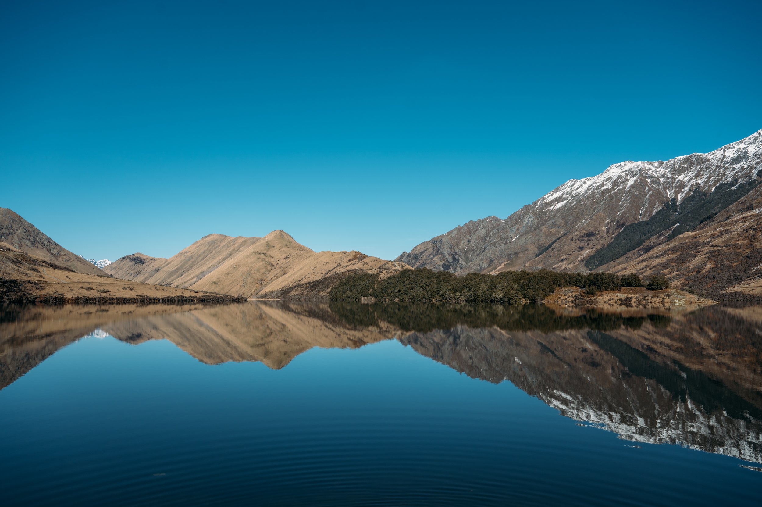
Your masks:
<path fill-rule="evenodd" d="M 762 2 L 0 2 L 0 206 L 67 249 L 394 258 L 762 129 Z"/>

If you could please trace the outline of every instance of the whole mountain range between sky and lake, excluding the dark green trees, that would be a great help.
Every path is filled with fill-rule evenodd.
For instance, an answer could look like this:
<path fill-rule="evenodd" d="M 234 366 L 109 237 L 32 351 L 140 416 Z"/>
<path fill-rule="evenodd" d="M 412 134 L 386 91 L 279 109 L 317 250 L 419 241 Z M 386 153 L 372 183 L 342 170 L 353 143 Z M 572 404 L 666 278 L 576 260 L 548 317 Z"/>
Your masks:
<path fill-rule="evenodd" d="M 312 299 L 327 297 L 351 274 L 384 280 L 410 268 L 457 275 L 607 271 L 664 276 L 673 288 L 712 299 L 756 298 L 760 184 L 762 130 L 706 154 L 611 165 L 505 219 L 471 221 L 394 261 L 314 252 L 275 230 L 261 237 L 210 234 L 170 258 L 134 253 L 88 262 L 0 208 L 0 300 Z"/>

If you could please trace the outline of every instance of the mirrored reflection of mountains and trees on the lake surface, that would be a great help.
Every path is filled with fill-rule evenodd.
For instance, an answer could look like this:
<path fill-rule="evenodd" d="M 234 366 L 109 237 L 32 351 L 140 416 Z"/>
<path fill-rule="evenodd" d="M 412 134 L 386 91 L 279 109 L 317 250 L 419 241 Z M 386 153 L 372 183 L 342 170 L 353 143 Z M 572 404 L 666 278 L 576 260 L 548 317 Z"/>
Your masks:
<path fill-rule="evenodd" d="M 508 380 L 633 442 L 762 463 L 762 309 L 558 315 L 546 306 L 245 303 L 0 313 L 0 387 L 88 335 L 167 339 L 207 364 L 285 367 L 313 347 L 397 339 L 469 377 Z"/>

